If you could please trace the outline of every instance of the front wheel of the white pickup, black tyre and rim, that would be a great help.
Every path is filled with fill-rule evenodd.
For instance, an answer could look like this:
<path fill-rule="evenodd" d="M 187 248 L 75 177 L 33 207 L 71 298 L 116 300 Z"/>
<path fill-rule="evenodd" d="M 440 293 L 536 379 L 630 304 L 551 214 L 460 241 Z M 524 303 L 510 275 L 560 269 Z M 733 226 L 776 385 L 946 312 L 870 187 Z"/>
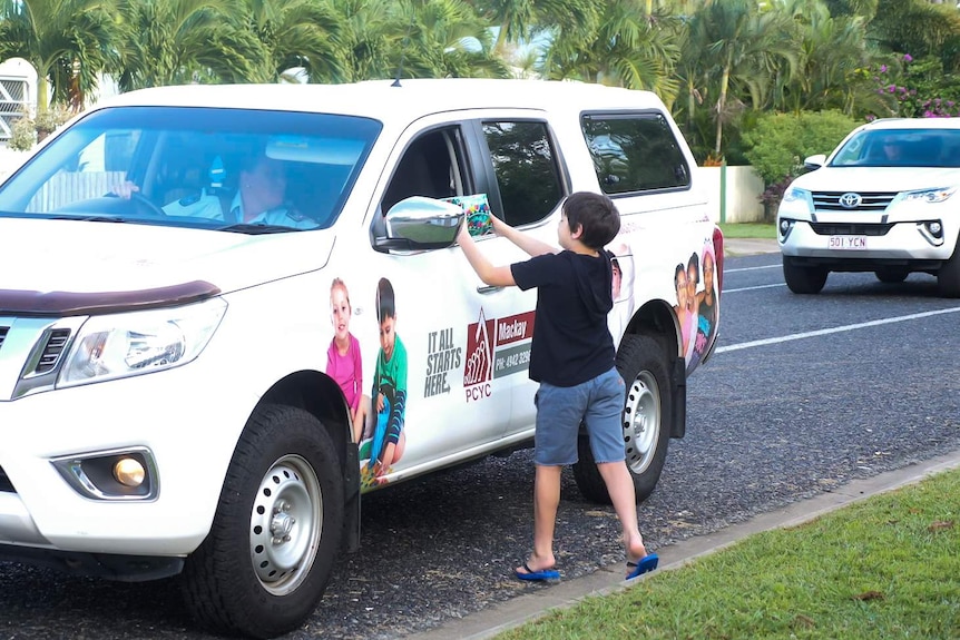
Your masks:
<path fill-rule="evenodd" d="M 302 624 L 340 550 L 342 475 L 333 441 L 313 415 L 258 410 L 237 443 L 213 528 L 184 567 L 194 618 L 253 638 Z"/>

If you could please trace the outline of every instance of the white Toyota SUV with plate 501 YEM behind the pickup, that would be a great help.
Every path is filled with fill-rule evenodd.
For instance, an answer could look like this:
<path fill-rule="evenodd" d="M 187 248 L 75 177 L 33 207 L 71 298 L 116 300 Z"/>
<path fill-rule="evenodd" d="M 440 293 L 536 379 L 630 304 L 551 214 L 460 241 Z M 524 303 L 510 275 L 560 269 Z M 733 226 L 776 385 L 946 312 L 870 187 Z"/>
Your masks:
<path fill-rule="evenodd" d="M 937 276 L 960 297 L 960 119 L 884 119 L 852 131 L 796 178 L 777 211 L 786 284 L 819 293 L 830 272 L 884 283 Z"/>

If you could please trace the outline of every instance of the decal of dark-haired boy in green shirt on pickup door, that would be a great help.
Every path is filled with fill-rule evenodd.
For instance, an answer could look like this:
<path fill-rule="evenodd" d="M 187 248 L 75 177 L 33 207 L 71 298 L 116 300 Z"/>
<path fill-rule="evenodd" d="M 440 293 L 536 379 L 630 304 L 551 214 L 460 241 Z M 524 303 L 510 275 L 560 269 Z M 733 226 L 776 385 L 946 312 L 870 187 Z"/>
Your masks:
<path fill-rule="evenodd" d="M 403 455 L 406 406 L 406 348 L 396 335 L 396 307 L 393 285 L 380 278 L 376 287 L 376 319 L 380 323 L 380 352 L 373 373 L 370 398 L 361 402 L 356 416 L 360 443 L 361 484 L 381 484 L 381 477 Z"/>

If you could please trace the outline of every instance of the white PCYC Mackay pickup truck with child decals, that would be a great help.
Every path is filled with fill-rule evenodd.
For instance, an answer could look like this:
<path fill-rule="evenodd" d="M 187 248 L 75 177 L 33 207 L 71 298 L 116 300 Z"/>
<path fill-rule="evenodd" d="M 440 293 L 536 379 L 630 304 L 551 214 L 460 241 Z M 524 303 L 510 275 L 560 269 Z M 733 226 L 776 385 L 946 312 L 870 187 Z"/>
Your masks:
<path fill-rule="evenodd" d="M 454 239 L 477 206 L 556 243 L 577 190 L 623 218 L 609 326 L 644 499 L 723 265 L 654 95 L 189 86 L 79 115 L 0 185 L 0 559 L 180 573 L 205 627 L 296 628 L 364 493 L 531 444 L 536 293 L 483 286 Z M 581 444 L 577 482 L 607 500 Z"/>

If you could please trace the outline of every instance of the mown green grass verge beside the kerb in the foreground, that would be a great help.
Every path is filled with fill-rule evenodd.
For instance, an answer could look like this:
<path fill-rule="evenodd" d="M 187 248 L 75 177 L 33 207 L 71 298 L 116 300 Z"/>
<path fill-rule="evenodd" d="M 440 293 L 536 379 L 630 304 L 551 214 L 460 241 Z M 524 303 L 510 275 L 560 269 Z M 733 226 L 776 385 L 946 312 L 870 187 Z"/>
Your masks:
<path fill-rule="evenodd" d="M 960 471 L 754 534 L 496 638 L 960 638 Z"/>

